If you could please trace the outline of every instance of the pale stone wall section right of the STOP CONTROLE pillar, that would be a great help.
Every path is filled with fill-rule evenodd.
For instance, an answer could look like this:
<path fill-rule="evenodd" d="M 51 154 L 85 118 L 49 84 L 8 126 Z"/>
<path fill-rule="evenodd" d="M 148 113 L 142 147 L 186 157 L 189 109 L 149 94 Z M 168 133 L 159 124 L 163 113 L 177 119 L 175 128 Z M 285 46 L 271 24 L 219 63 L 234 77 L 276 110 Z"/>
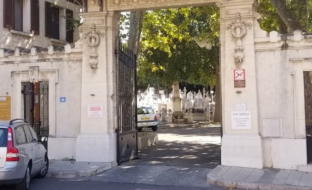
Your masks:
<path fill-rule="evenodd" d="M 255 44 L 264 167 L 297 169 L 307 164 L 302 83 L 303 70 L 312 70 L 312 35 L 271 32 Z"/>

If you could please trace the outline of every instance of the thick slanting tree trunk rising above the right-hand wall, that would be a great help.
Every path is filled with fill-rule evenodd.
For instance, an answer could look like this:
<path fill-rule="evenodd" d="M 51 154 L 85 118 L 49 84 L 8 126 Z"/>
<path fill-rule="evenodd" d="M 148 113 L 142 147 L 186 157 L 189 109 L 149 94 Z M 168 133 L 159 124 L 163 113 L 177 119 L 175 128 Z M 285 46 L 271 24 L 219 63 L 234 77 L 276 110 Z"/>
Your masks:
<path fill-rule="evenodd" d="M 291 33 L 295 30 L 306 31 L 292 11 L 287 8 L 286 0 L 271 0 L 271 3 Z"/>

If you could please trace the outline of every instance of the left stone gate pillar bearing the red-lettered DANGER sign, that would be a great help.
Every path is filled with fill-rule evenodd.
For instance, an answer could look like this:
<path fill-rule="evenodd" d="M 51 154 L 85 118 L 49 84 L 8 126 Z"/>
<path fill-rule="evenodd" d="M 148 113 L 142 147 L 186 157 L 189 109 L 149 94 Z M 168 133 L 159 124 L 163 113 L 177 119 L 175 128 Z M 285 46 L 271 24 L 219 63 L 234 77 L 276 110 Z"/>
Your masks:
<path fill-rule="evenodd" d="M 100 2 L 88 3 L 89 12 L 81 14 L 84 43 L 76 160 L 116 163 L 115 49 L 119 13 L 101 11 L 101 4 L 97 3 Z"/>

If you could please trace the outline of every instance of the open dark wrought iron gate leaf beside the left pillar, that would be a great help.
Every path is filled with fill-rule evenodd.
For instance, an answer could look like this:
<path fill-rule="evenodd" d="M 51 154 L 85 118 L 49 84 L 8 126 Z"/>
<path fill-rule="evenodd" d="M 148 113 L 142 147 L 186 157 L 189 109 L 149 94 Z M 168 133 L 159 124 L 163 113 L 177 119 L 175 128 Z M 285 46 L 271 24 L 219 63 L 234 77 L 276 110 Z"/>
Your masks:
<path fill-rule="evenodd" d="M 136 55 L 119 43 L 117 48 L 118 164 L 138 158 Z"/>

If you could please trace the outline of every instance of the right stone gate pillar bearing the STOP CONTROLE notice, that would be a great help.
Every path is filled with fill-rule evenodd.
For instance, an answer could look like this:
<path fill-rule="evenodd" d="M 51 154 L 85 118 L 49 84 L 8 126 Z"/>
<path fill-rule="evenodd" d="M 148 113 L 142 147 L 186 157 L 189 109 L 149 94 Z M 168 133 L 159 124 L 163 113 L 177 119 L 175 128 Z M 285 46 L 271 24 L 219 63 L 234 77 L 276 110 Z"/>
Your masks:
<path fill-rule="evenodd" d="M 223 108 L 221 164 L 262 168 L 254 43 L 258 4 L 256 0 L 220 0 L 217 5 Z M 235 77 L 240 81 L 234 82 Z"/>

